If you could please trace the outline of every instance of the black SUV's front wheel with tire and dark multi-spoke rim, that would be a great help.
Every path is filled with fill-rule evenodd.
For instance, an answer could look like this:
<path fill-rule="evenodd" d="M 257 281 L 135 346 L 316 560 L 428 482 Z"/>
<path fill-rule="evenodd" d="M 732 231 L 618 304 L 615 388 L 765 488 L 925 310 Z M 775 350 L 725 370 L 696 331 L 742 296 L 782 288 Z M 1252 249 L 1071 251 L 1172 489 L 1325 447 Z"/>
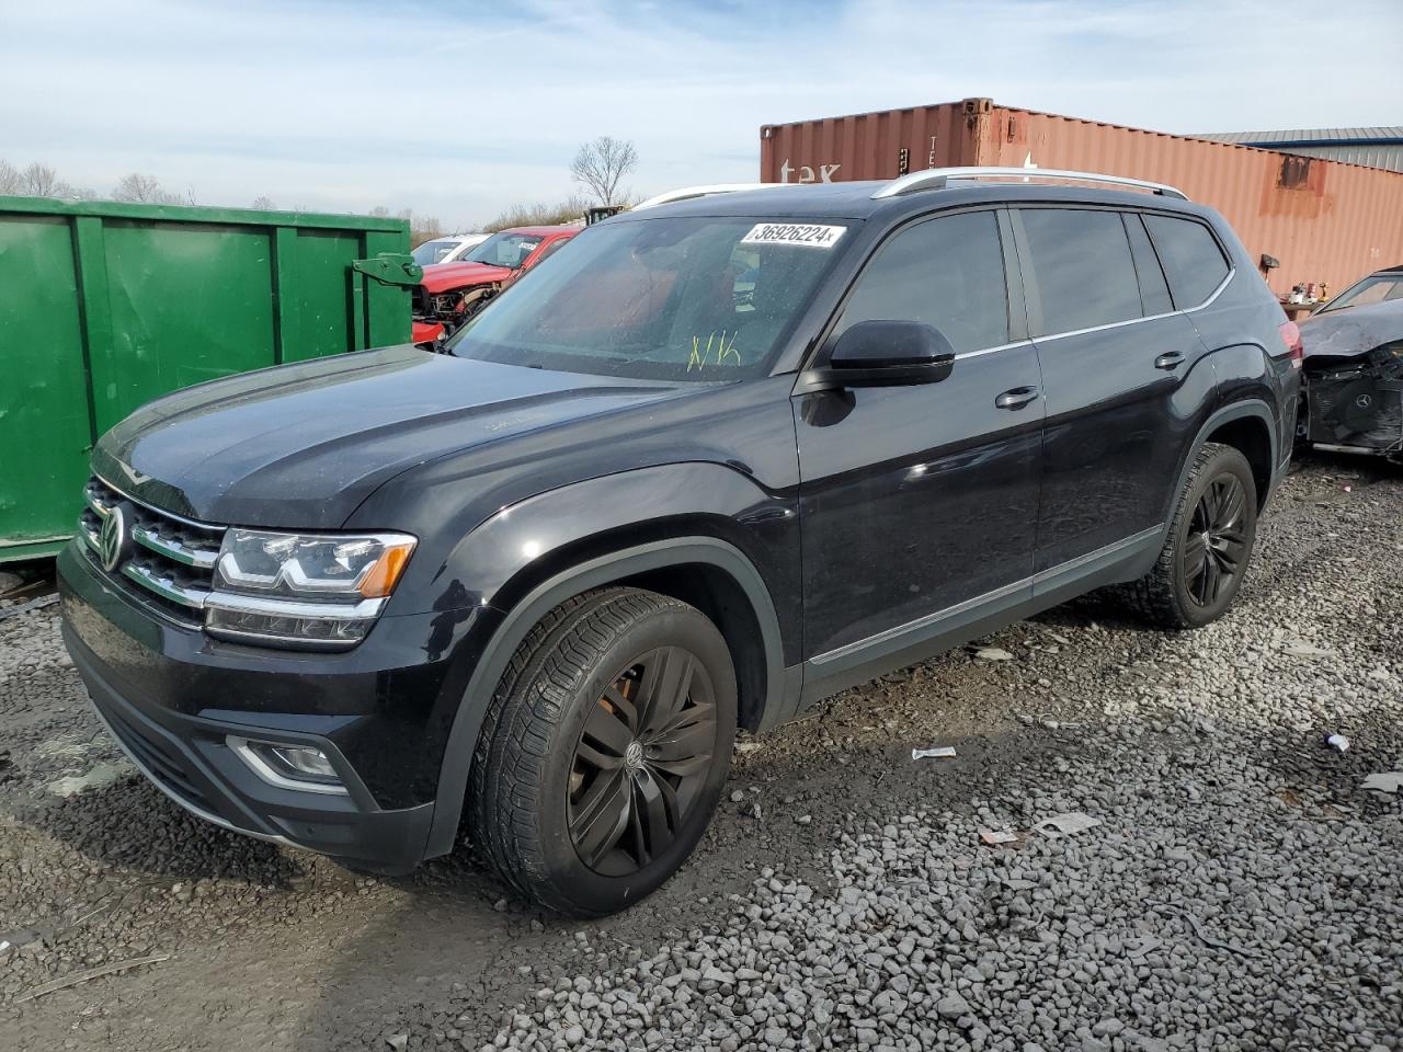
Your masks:
<path fill-rule="evenodd" d="M 735 670 L 702 612 L 610 588 L 551 610 L 512 656 L 473 764 L 470 822 L 523 896 L 613 913 L 706 830 L 731 762 Z"/>

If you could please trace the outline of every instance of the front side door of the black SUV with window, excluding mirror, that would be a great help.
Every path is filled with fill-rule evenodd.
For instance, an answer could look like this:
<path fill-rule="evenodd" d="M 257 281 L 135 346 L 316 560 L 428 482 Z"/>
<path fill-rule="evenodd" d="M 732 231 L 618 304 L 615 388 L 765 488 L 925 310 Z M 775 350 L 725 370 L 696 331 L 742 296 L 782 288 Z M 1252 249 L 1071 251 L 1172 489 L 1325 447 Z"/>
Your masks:
<path fill-rule="evenodd" d="M 898 231 L 828 339 L 859 321 L 932 324 L 957 352 L 946 380 L 794 397 L 810 696 L 1030 595 L 1041 377 L 1034 348 L 1010 342 L 1003 240 L 993 210 Z"/>

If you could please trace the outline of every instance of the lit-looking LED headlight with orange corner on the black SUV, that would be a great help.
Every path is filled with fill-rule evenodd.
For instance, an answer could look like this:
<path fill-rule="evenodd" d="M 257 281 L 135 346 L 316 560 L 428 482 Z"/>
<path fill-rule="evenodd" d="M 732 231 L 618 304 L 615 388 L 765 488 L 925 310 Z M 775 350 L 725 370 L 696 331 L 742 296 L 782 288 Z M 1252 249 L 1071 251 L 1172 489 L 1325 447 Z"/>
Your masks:
<path fill-rule="evenodd" d="M 264 645 L 354 647 L 380 614 L 414 544 L 404 533 L 230 529 L 205 600 L 205 630 Z"/>

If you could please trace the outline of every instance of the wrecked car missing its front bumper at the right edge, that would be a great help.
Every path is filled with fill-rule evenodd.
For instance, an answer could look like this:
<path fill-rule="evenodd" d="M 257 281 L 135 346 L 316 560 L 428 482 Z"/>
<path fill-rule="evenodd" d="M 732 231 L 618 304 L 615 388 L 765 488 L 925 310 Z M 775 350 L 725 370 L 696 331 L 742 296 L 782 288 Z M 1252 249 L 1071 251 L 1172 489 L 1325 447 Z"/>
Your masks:
<path fill-rule="evenodd" d="M 1376 271 L 1301 323 L 1298 438 L 1403 461 L 1403 267 Z"/>

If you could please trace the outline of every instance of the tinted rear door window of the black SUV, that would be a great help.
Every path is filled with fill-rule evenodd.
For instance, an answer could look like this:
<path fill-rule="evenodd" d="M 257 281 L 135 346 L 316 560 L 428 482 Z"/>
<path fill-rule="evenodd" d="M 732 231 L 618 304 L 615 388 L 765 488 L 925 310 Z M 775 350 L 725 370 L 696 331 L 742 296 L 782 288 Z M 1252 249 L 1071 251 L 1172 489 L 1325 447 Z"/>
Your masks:
<path fill-rule="evenodd" d="M 1117 212 L 1023 209 L 1041 331 L 1072 332 L 1142 317 L 1125 226 Z"/>

